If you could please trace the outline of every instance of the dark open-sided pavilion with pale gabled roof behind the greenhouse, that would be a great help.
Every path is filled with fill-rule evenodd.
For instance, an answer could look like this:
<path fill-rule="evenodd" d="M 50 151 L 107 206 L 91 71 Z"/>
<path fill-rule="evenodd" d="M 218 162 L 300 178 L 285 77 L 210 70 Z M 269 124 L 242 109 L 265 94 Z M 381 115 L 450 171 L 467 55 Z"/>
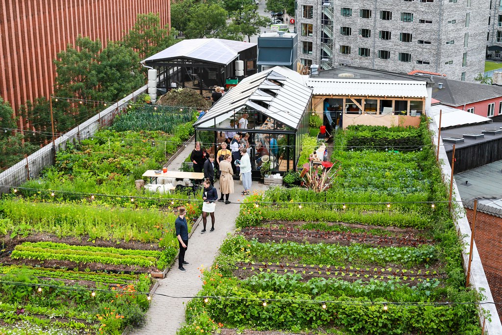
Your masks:
<path fill-rule="evenodd" d="M 257 72 L 257 44 L 240 41 L 199 38 L 182 40 L 143 60 L 159 70 L 158 88 L 190 87 L 211 91 L 225 86 L 227 78 L 241 79 Z M 243 62 L 242 75 L 236 77 L 235 61 Z"/>

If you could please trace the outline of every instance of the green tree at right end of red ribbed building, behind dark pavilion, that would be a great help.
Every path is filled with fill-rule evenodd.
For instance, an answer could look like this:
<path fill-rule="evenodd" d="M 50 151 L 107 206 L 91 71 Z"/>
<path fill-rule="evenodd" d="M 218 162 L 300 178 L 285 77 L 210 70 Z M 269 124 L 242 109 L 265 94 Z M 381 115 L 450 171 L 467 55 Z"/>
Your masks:
<path fill-rule="evenodd" d="M 124 46 L 145 59 L 175 44 L 176 35 L 176 31 L 169 31 L 168 26 L 161 27 L 159 14 L 138 14 L 133 29 L 124 35 L 122 41 Z"/>

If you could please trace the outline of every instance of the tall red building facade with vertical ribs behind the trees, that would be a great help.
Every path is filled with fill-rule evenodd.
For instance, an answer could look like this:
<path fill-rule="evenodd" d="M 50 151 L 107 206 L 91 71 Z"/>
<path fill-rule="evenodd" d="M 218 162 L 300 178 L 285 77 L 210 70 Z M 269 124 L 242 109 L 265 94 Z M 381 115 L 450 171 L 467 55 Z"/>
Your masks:
<path fill-rule="evenodd" d="M 0 96 L 16 111 L 26 100 L 53 92 L 53 59 L 78 35 L 121 39 L 137 14 L 159 13 L 171 26 L 169 0 L 2 0 Z"/>

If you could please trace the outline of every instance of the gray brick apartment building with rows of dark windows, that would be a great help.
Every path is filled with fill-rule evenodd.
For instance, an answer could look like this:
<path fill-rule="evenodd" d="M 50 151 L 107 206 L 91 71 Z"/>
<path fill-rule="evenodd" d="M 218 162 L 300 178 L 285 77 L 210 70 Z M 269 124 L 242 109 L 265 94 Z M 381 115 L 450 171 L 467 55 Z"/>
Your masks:
<path fill-rule="evenodd" d="M 353 65 L 405 73 L 421 70 L 473 81 L 484 71 L 489 21 L 502 21 L 502 13 L 500 19 L 489 19 L 490 13 L 495 15 L 490 11 L 494 3 L 298 0 L 298 59 L 304 65 L 318 64 L 319 69 Z M 499 30 L 502 34 L 502 26 Z M 499 40 L 502 45 L 502 35 Z"/>

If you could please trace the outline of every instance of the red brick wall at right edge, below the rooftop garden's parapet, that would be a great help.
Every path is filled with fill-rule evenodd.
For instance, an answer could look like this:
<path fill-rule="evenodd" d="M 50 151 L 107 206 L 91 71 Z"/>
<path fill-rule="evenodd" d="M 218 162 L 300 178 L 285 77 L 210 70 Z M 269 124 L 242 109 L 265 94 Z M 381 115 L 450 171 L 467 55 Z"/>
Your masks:
<path fill-rule="evenodd" d="M 472 230 L 473 202 L 465 204 L 467 220 Z M 490 286 L 491 295 L 496 302 L 502 301 L 502 209 L 479 204 L 476 214 L 474 235 L 484 273 Z M 496 305 L 502 316 L 502 305 Z"/>

